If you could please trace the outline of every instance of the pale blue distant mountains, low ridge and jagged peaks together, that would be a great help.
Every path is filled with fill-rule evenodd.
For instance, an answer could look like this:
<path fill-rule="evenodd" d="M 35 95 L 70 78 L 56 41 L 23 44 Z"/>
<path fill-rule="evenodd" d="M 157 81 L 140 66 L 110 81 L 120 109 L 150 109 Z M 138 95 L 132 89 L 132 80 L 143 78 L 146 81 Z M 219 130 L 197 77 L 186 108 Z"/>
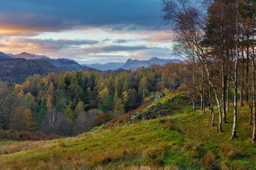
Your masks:
<path fill-rule="evenodd" d="M 131 60 L 128 59 L 126 62 L 108 62 L 106 64 L 83 64 L 86 67 L 91 67 L 94 69 L 99 69 L 101 71 L 106 71 L 108 69 L 138 69 L 141 67 L 150 67 L 152 64 L 165 65 L 169 62 L 179 62 L 182 63 L 182 60 L 179 59 L 160 59 L 157 57 L 152 57 L 150 60 Z"/>

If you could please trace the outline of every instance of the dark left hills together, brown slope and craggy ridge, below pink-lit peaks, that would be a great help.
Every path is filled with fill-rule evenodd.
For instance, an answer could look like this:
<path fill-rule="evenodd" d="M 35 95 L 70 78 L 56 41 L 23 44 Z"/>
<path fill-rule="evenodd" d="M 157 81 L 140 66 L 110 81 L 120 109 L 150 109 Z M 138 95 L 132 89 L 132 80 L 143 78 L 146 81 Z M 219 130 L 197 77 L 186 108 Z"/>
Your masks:
<path fill-rule="evenodd" d="M 50 72 L 60 73 L 62 71 L 79 70 L 89 72 L 99 71 L 81 66 L 74 60 L 53 60 L 46 57 L 36 60 L 26 60 L 24 58 L 11 58 L 9 55 L 1 55 L 0 53 L 0 80 L 6 83 L 23 83 L 26 78 L 34 74 L 46 76 Z"/>

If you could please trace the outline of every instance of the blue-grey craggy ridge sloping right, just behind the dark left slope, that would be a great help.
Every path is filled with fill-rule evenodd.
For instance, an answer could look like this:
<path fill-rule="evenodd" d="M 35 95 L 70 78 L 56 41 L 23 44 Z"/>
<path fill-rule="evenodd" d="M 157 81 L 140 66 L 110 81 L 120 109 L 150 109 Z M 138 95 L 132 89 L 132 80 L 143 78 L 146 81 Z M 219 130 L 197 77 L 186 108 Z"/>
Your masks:
<path fill-rule="evenodd" d="M 99 71 L 97 69 L 93 69 L 91 67 L 86 67 L 82 66 L 79 63 L 75 62 L 74 60 L 69 60 L 69 59 L 48 59 L 48 58 L 40 58 L 39 60 L 45 60 L 50 62 L 50 64 L 56 66 L 56 67 L 61 67 L 63 69 L 69 70 L 69 71 L 79 71 L 79 70 L 84 70 L 88 72 L 93 72 L 93 71 Z"/>

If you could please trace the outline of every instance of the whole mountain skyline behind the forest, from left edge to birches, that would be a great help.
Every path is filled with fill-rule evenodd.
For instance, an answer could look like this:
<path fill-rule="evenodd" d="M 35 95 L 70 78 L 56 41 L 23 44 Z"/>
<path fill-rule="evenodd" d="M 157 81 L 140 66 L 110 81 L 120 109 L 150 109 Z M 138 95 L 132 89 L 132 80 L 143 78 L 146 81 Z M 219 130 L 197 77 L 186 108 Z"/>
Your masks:
<path fill-rule="evenodd" d="M 152 57 L 150 60 L 127 60 L 127 62 L 108 62 L 106 64 L 79 64 L 69 59 L 50 59 L 45 55 L 35 55 L 22 52 L 18 55 L 5 54 L 0 52 L 0 79 L 7 83 L 22 83 L 27 77 L 34 74 L 47 75 L 50 72 L 79 71 L 102 72 L 109 74 L 111 70 L 123 72 L 126 69 L 138 69 L 140 67 L 150 67 L 151 64 L 165 65 L 169 62 L 179 62 L 182 60 L 167 60 Z"/>

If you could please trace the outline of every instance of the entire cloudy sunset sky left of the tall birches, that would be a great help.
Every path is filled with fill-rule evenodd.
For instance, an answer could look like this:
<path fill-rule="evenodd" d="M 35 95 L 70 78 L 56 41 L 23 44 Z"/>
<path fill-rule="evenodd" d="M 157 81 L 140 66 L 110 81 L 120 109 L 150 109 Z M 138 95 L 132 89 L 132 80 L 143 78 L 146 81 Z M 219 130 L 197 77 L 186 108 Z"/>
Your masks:
<path fill-rule="evenodd" d="M 0 0 L 0 51 L 80 64 L 177 58 L 162 0 Z"/>

